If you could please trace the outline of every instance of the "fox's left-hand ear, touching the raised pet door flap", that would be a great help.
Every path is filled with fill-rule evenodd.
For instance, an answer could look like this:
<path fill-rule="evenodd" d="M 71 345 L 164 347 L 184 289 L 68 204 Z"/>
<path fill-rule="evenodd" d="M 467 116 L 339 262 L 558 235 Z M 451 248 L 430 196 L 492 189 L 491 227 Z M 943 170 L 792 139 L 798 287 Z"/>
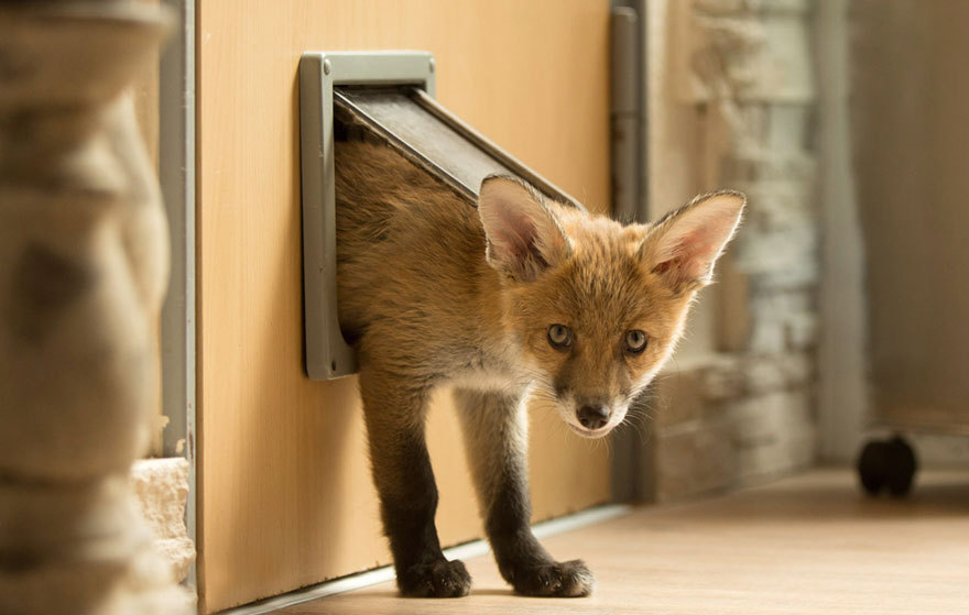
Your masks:
<path fill-rule="evenodd" d="M 533 282 L 571 252 L 562 223 L 542 196 L 515 178 L 489 175 L 478 215 L 488 238 L 488 264 L 519 282 Z"/>

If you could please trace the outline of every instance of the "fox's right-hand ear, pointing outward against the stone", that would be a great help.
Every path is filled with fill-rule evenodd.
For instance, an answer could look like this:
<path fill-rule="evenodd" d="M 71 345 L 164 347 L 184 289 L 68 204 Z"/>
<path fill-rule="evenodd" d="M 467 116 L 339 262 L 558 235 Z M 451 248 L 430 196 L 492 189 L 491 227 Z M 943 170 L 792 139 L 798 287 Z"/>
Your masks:
<path fill-rule="evenodd" d="M 706 286 L 714 263 L 740 224 L 745 202 L 734 191 L 693 199 L 656 222 L 640 249 L 643 263 L 675 288 Z"/>

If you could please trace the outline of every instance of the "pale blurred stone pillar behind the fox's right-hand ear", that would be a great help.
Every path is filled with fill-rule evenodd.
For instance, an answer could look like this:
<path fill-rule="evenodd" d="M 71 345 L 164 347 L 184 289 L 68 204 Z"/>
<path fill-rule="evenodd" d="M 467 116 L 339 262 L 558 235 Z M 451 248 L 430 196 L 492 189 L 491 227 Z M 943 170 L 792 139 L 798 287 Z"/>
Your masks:
<path fill-rule="evenodd" d="M 810 0 L 693 0 L 678 74 L 696 109 L 699 189 L 747 193 L 718 265 L 716 353 L 662 380 L 661 499 L 722 490 L 815 457 L 818 211 Z M 705 298 L 705 300 L 707 300 Z"/>

